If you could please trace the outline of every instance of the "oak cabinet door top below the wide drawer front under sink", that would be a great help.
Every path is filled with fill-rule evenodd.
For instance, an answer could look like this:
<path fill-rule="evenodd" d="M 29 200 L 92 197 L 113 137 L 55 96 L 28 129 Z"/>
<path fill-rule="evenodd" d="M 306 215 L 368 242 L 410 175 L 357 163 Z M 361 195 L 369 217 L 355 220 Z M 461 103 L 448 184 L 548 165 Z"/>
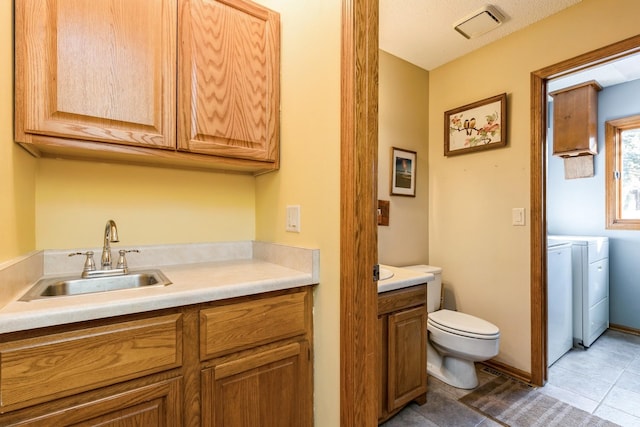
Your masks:
<path fill-rule="evenodd" d="M 182 379 L 141 386 L 50 412 L 31 408 L 7 414 L 1 425 L 20 426 L 179 426 L 182 425 Z M 40 413 L 44 412 L 44 413 Z"/>

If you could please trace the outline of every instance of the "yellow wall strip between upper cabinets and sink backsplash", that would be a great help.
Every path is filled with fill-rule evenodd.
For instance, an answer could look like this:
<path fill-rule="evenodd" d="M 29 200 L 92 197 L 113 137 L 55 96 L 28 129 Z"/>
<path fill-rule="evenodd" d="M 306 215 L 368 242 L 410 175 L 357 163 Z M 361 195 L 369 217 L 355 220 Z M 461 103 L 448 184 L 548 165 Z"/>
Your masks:
<path fill-rule="evenodd" d="M 38 160 L 38 249 L 99 247 L 108 219 L 120 245 L 252 240 L 255 178 Z"/>

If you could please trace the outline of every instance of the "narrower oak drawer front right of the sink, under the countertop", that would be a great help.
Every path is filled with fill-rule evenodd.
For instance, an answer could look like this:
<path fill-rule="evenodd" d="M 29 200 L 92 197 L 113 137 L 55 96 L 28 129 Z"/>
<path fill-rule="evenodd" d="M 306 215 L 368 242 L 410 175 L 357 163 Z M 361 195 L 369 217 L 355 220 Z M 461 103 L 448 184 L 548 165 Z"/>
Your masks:
<path fill-rule="evenodd" d="M 200 359 L 302 335 L 311 328 L 306 291 L 260 298 L 200 311 Z"/>

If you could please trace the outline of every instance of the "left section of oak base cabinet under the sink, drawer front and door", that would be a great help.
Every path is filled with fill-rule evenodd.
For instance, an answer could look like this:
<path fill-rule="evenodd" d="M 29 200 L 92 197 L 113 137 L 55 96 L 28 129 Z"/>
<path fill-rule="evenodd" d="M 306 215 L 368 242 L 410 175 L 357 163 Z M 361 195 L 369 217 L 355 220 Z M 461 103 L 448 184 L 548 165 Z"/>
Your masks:
<path fill-rule="evenodd" d="M 181 314 L 49 332 L 3 337 L 1 425 L 180 424 Z"/>

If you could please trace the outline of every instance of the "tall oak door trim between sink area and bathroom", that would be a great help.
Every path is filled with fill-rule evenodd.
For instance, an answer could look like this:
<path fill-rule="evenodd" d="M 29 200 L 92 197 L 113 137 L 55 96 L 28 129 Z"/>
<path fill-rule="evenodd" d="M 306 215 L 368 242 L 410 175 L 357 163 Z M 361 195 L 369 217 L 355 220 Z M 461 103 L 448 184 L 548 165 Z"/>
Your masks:
<path fill-rule="evenodd" d="M 378 419 L 378 0 L 342 1 L 340 425 Z"/>

